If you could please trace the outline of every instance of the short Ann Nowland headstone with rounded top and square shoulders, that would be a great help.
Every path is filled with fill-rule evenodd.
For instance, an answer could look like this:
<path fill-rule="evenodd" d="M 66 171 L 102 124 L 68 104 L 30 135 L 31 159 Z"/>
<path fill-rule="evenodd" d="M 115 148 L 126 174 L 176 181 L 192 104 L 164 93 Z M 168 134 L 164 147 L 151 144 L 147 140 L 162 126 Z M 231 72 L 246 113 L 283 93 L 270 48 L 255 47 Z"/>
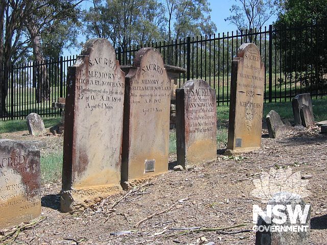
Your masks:
<path fill-rule="evenodd" d="M 190 80 L 176 89 L 177 164 L 185 169 L 217 158 L 216 89 Z"/>

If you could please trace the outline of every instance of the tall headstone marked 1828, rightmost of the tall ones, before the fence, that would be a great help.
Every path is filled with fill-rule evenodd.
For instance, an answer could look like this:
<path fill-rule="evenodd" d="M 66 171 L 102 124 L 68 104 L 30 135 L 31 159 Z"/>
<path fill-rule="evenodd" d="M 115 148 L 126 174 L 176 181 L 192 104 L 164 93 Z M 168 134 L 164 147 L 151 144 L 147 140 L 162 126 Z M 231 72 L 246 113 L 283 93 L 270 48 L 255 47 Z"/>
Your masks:
<path fill-rule="evenodd" d="M 265 67 L 253 43 L 242 44 L 231 64 L 227 150 L 252 151 L 261 146 Z"/>

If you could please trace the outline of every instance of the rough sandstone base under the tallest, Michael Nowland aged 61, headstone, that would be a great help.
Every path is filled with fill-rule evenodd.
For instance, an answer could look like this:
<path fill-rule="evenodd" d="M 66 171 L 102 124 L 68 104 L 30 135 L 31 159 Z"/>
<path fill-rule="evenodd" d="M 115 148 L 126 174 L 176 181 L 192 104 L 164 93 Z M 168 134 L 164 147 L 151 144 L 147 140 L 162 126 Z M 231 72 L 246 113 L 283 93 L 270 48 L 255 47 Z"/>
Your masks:
<path fill-rule="evenodd" d="M 122 191 L 123 190 L 120 185 L 78 190 L 61 190 L 60 210 L 64 213 L 80 212 L 109 197 L 110 195 L 121 193 Z"/>

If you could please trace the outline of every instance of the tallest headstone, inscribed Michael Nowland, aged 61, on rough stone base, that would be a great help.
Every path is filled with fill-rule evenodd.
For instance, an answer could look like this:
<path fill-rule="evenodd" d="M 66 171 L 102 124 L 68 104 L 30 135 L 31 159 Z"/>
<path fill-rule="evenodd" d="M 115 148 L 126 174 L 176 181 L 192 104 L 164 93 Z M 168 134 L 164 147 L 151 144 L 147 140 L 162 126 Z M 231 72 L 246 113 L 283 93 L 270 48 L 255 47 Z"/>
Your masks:
<path fill-rule="evenodd" d="M 61 211 L 121 191 L 125 74 L 108 40 L 88 40 L 69 67 Z"/>

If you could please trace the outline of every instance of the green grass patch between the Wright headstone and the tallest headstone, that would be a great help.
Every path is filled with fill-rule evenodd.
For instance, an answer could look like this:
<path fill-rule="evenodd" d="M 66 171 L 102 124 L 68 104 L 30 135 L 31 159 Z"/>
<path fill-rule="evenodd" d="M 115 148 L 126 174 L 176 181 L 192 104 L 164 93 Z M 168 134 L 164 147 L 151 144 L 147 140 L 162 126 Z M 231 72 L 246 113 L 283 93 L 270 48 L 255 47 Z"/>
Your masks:
<path fill-rule="evenodd" d="M 61 179 L 63 152 L 41 156 L 41 182 L 57 182 Z"/>

